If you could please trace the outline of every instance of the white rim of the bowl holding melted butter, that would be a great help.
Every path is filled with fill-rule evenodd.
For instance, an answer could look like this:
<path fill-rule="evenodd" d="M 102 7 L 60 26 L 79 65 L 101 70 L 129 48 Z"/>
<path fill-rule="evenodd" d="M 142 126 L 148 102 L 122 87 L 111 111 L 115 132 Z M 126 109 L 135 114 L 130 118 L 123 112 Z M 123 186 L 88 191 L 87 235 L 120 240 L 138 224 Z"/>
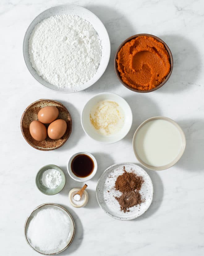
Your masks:
<path fill-rule="evenodd" d="M 115 141 L 113 141 L 113 142 L 102 142 L 102 141 L 96 140 L 96 139 L 94 139 L 93 137 L 91 137 L 91 136 L 87 133 L 86 129 L 85 129 L 84 126 L 83 126 L 82 118 L 83 118 L 83 112 L 84 112 L 85 106 L 86 106 L 86 105 L 88 104 L 88 102 L 91 101 L 93 98 L 95 98 L 95 97 L 97 97 L 97 96 L 99 96 L 99 95 L 103 95 L 103 94 L 115 95 L 115 96 L 117 96 L 117 97 L 120 97 L 122 100 L 124 100 L 124 101 L 126 102 L 127 106 L 128 106 L 129 109 L 130 109 L 130 113 L 129 113 L 129 114 L 130 114 L 130 118 L 131 118 L 131 125 L 130 125 L 130 129 L 131 129 L 132 123 L 133 123 L 133 113 L 132 113 L 132 109 L 131 109 L 130 105 L 128 104 L 128 102 L 127 102 L 123 97 L 121 97 L 120 95 L 118 95 L 118 94 L 116 94 L 116 93 L 113 93 L 113 92 L 100 92 L 100 93 L 97 93 L 96 95 L 94 95 L 93 97 L 91 97 L 91 98 L 84 104 L 83 109 L 82 109 L 82 111 L 81 111 L 81 125 L 82 125 L 82 128 L 83 128 L 83 131 L 84 131 L 91 139 L 93 139 L 93 140 L 95 140 L 95 141 L 97 141 L 97 142 L 99 142 L 99 143 L 101 143 L 101 144 L 113 144 L 113 143 L 116 143 L 116 142 L 118 142 L 118 141 L 121 141 L 123 138 L 125 138 L 125 136 L 128 134 L 128 132 L 130 132 L 130 129 L 127 130 L 127 132 L 123 135 L 123 137 L 121 137 L 121 138 L 119 138 L 119 139 L 117 139 L 117 140 L 115 140 Z"/>

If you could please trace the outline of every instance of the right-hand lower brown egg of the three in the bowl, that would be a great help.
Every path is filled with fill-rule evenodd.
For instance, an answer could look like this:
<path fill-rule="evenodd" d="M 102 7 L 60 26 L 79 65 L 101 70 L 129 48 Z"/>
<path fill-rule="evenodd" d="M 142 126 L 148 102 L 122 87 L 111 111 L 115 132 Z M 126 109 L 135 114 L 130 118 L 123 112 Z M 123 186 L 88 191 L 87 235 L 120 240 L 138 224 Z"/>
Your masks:
<path fill-rule="evenodd" d="M 48 136 L 50 139 L 60 139 L 66 132 L 66 122 L 63 119 L 57 119 L 48 126 Z"/>

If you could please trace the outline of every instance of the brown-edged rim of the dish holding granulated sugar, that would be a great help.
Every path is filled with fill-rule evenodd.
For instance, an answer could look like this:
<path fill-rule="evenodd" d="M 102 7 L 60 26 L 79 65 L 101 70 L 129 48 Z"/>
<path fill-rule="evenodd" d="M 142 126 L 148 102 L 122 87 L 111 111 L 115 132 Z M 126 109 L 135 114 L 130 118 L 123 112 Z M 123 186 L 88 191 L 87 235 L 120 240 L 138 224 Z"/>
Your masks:
<path fill-rule="evenodd" d="M 73 227 L 74 227 L 73 235 L 72 235 L 72 238 L 71 238 L 69 244 L 66 245 L 66 247 L 65 247 L 64 249 L 62 249 L 61 251 L 59 251 L 59 252 L 57 252 L 57 253 L 52 253 L 52 254 L 40 253 L 39 251 L 37 251 L 35 248 L 33 248 L 33 247 L 30 245 L 30 243 L 28 242 L 28 239 L 27 239 L 27 235 L 26 235 L 26 227 L 27 227 L 27 224 L 28 224 L 28 219 L 30 218 L 31 214 L 32 214 L 34 211 L 36 211 L 37 209 L 39 209 L 39 208 L 41 208 L 41 207 L 43 207 L 43 206 L 45 206 L 45 205 L 54 205 L 54 206 L 57 206 L 57 207 L 59 207 L 59 208 L 62 208 L 64 211 L 66 211 L 66 213 L 70 216 L 70 218 L 71 218 L 71 220 L 72 220 L 72 223 L 73 223 Z M 26 218 L 26 221 L 25 221 L 25 224 L 24 224 L 24 237 L 25 237 L 25 240 L 26 240 L 27 244 L 28 244 L 34 251 L 36 251 L 36 252 L 38 252 L 38 253 L 40 253 L 40 254 L 42 254 L 42 255 L 57 255 L 57 254 L 63 252 L 64 250 L 66 250 L 66 249 L 70 246 L 70 244 L 72 243 L 72 241 L 73 241 L 73 239 L 74 239 L 75 231 L 76 231 L 76 227 L 75 227 L 74 219 L 72 218 L 72 216 L 71 216 L 71 214 L 68 212 L 68 210 L 66 210 L 64 207 L 62 207 L 62 206 L 59 205 L 59 204 L 53 204 L 53 203 L 45 203 L 45 204 L 40 204 L 40 205 L 38 205 L 35 209 L 32 210 L 32 212 L 30 213 L 30 215 Z"/>

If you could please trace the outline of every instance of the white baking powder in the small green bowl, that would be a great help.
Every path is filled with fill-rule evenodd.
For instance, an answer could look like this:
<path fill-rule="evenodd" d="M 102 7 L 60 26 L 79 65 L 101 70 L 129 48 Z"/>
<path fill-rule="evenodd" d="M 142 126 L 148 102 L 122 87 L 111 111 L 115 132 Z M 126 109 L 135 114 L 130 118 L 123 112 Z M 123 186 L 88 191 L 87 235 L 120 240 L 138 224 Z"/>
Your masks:
<path fill-rule="evenodd" d="M 41 182 L 45 187 L 53 189 L 62 182 L 62 175 L 56 169 L 48 169 L 43 173 Z"/>

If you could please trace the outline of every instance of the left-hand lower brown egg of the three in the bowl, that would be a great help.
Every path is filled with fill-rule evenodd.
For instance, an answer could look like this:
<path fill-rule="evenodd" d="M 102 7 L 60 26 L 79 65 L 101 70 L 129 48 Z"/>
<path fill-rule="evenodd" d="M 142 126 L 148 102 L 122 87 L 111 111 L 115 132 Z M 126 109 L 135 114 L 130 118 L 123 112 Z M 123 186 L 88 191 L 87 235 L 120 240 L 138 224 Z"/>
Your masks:
<path fill-rule="evenodd" d="M 47 129 L 39 121 L 32 121 L 29 127 L 30 134 L 36 141 L 44 141 L 47 137 Z"/>

